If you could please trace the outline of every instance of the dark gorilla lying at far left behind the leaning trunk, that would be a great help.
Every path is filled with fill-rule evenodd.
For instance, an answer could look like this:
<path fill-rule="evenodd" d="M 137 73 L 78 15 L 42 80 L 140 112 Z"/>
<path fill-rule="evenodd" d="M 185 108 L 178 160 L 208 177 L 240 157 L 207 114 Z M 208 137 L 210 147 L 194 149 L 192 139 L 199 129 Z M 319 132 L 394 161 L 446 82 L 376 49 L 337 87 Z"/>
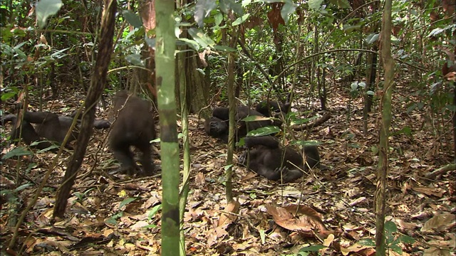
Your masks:
<path fill-rule="evenodd" d="M 51 142 L 62 144 L 68 129 L 70 129 L 71 124 L 73 123 L 73 117 L 58 116 L 52 112 L 26 111 L 24 112 L 24 118 L 21 120 L 20 125 L 18 125 L 19 121 L 16 114 L 6 114 L 4 117 L 1 117 L 2 124 L 5 122 L 13 123 L 10 139 L 19 139 L 19 135 L 21 135 L 25 144 L 30 145 L 32 142 L 42 141 L 36 145 L 36 148 L 46 149 L 52 145 Z M 106 127 L 106 120 L 95 121 L 95 128 L 102 129 Z M 33 128 L 31 124 L 36 124 L 36 127 Z M 78 133 L 78 124 L 76 124 L 75 129 L 71 132 L 65 145 L 68 149 L 71 149 L 70 142 L 73 142 L 78 138 Z"/>

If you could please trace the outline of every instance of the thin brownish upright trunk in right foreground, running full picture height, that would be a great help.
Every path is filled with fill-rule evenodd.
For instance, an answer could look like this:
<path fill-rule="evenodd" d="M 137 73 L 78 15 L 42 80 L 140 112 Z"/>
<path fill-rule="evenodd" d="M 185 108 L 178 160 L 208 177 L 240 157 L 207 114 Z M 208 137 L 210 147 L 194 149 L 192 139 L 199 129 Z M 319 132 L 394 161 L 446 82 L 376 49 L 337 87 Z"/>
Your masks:
<path fill-rule="evenodd" d="M 385 1 L 381 31 L 381 57 L 385 69 L 385 87 L 382 97 L 382 122 L 380 124 L 380 144 L 377 171 L 377 189 L 375 191 L 376 254 L 385 255 L 385 191 L 388 176 L 388 136 L 391 123 L 391 97 L 394 89 L 394 65 L 391 57 L 391 0 Z"/>

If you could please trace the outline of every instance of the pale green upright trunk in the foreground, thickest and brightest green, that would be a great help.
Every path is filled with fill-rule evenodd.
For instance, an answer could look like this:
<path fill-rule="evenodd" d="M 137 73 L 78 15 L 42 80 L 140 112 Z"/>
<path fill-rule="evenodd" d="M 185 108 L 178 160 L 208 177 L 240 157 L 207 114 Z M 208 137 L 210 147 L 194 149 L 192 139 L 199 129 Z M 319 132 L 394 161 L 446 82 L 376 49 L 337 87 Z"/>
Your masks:
<path fill-rule="evenodd" d="M 160 149 L 162 158 L 162 255 L 179 255 L 179 144 L 175 98 L 175 2 L 155 1 L 157 15 L 155 43 Z"/>

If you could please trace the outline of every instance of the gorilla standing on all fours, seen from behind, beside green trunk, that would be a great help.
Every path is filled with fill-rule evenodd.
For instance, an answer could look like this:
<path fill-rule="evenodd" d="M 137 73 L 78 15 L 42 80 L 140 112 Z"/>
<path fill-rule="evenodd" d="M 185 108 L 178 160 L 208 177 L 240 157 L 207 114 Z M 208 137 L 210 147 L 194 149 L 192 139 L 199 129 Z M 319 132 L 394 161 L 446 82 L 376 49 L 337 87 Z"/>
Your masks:
<path fill-rule="evenodd" d="M 122 165 L 121 171 L 128 174 L 138 170 L 133 160 L 130 146 L 135 146 L 142 152 L 142 173 L 145 176 L 153 174 L 155 166 L 152 162 L 152 147 L 150 141 L 155 139 L 155 123 L 150 102 L 140 99 L 121 90 L 113 98 L 114 116 L 109 136 L 110 148 L 115 159 Z"/>

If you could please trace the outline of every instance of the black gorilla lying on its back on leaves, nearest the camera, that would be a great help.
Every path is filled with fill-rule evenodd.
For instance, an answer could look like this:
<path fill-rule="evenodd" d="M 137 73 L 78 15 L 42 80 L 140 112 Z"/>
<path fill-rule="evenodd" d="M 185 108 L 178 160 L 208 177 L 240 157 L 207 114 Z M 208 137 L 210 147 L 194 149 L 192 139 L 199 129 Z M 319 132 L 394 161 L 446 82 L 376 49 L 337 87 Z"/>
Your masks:
<path fill-rule="evenodd" d="M 271 136 L 247 137 L 245 144 L 250 154 L 249 169 L 271 181 L 294 181 L 303 176 L 300 169 L 305 171 L 320 164 L 316 146 L 304 146 L 304 163 L 301 153 L 289 146 L 281 147 L 279 141 Z M 239 157 L 239 162 L 247 164 L 247 151 Z"/>

